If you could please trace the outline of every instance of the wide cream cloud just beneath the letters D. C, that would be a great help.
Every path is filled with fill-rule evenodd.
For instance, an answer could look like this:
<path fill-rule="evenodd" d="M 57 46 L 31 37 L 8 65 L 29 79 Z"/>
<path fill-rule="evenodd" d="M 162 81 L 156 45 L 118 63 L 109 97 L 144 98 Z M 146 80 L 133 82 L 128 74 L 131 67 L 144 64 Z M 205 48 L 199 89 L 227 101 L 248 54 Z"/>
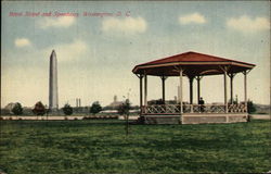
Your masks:
<path fill-rule="evenodd" d="M 142 17 L 109 17 L 102 22 L 102 30 L 105 33 L 142 34 L 146 28 L 147 23 Z"/>

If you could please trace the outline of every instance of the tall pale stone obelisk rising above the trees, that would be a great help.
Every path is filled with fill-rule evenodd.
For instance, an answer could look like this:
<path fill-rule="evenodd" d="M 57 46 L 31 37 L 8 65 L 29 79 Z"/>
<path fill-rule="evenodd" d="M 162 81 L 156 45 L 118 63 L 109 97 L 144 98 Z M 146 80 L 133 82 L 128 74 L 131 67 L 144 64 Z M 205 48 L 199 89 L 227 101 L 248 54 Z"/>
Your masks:
<path fill-rule="evenodd" d="M 59 109 L 59 92 L 57 92 L 57 60 L 53 50 L 50 57 L 49 72 L 49 109 L 56 111 Z"/>

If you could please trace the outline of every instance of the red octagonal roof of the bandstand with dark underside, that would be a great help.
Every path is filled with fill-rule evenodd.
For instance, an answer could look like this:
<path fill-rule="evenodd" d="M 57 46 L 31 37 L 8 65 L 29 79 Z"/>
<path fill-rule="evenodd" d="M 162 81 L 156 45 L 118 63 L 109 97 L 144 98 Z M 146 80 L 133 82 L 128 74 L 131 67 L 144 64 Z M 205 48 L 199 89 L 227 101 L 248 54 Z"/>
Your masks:
<path fill-rule="evenodd" d="M 204 76 L 223 74 L 227 67 L 228 74 L 235 74 L 251 70 L 255 64 L 208 55 L 197 52 L 184 52 L 181 54 L 155 60 L 152 62 L 134 66 L 134 74 L 154 75 L 154 76 L 179 76 L 179 69 L 183 69 L 186 76 Z"/>

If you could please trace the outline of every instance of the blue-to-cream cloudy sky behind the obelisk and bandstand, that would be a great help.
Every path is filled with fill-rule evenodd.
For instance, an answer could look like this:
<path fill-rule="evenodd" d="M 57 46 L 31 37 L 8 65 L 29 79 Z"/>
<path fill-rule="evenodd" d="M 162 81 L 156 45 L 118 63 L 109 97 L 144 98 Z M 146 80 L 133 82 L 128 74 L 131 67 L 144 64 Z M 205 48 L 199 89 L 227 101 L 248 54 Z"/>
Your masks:
<path fill-rule="evenodd" d="M 1 107 L 49 103 L 49 58 L 54 49 L 59 105 L 82 105 L 114 96 L 139 104 L 140 63 L 195 51 L 256 64 L 248 98 L 270 103 L 269 1 L 1 1 Z M 229 82 L 229 79 L 228 79 Z M 229 84 L 229 83 L 228 83 Z M 166 99 L 178 95 L 166 80 Z M 223 102 L 223 76 L 204 77 L 205 102 Z M 244 75 L 234 77 L 244 100 Z M 228 91 L 230 94 L 230 91 Z M 189 101 L 189 80 L 183 98 Z M 159 77 L 149 77 L 149 99 L 162 98 Z M 196 83 L 194 82 L 194 102 Z"/>

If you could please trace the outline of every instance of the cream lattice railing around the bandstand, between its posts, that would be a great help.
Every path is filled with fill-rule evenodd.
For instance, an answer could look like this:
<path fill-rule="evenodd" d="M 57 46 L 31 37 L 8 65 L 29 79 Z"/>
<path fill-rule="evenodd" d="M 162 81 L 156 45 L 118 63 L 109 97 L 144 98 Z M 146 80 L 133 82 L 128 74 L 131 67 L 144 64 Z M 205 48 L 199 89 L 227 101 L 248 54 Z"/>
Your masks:
<path fill-rule="evenodd" d="M 225 104 L 183 104 L 183 113 L 227 113 Z M 142 114 L 180 114 L 180 104 L 143 105 Z M 228 113 L 246 113 L 243 104 L 228 104 Z"/>

